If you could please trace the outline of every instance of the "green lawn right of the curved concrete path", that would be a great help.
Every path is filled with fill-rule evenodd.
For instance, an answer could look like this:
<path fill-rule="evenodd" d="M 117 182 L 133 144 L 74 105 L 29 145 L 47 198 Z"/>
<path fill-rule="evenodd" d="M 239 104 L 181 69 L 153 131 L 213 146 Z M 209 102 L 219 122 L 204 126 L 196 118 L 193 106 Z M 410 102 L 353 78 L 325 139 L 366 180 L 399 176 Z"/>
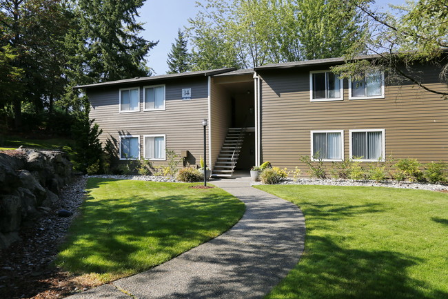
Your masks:
<path fill-rule="evenodd" d="M 305 252 L 267 298 L 448 298 L 448 195 L 256 186 L 305 214 Z"/>

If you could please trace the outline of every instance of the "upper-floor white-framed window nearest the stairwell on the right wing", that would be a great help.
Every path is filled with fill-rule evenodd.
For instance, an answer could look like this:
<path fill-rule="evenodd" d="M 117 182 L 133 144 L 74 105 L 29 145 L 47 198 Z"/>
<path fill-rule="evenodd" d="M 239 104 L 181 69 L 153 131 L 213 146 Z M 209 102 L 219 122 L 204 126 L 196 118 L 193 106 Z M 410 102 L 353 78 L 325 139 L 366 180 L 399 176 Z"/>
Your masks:
<path fill-rule="evenodd" d="M 309 94 L 311 102 L 342 101 L 343 79 L 329 70 L 309 72 Z"/>

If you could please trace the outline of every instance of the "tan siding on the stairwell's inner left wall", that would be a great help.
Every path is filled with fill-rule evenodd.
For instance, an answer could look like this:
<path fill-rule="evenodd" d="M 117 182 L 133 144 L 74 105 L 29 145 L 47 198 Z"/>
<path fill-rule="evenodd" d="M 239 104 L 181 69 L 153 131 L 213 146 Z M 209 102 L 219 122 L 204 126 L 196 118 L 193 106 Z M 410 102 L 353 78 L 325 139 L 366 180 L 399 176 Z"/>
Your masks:
<path fill-rule="evenodd" d="M 212 166 L 214 166 L 230 126 L 232 103 L 225 88 L 214 84 L 214 78 L 211 83 L 211 95 Z"/>

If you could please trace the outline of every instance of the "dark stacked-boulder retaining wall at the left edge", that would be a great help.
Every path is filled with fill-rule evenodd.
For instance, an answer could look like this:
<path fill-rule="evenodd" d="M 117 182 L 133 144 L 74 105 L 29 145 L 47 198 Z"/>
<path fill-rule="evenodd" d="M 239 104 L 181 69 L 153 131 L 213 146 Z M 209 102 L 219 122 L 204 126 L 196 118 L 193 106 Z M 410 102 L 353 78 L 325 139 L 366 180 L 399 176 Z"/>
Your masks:
<path fill-rule="evenodd" d="M 0 152 L 0 249 L 19 240 L 22 225 L 51 211 L 70 180 L 72 164 L 62 151 Z"/>

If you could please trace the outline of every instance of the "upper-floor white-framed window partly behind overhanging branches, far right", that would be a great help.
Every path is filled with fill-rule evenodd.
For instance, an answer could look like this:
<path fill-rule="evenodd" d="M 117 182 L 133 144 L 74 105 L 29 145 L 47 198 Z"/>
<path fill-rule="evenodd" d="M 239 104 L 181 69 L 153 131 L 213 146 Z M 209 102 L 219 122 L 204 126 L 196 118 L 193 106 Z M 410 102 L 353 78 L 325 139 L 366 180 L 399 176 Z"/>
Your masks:
<path fill-rule="evenodd" d="M 377 99 L 385 97 L 384 72 L 365 73 L 364 79 L 349 79 L 349 99 Z"/>

